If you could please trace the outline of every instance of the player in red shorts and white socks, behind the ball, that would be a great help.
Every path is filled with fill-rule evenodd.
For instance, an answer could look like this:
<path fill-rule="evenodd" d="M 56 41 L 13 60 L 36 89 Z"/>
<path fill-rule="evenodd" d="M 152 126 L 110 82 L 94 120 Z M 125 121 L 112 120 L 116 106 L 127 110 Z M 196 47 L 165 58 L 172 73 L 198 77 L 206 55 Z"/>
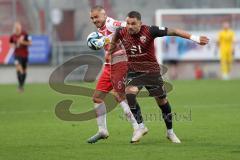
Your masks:
<path fill-rule="evenodd" d="M 97 27 L 98 32 L 103 34 L 110 41 L 117 28 L 126 26 L 125 22 L 120 22 L 108 17 L 102 6 L 93 7 L 90 12 L 90 18 Z M 95 143 L 109 136 L 106 124 L 106 106 L 104 98 L 111 90 L 116 93 L 114 94 L 116 100 L 119 102 L 124 114 L 133 126 L 133 136 L 139 131 L 139 126 L 145 129 L 145 133 L 147 132 L 147 128 L 142 121 L 139 122 L 139 124 L 136 121 L 125 98 L 124 79 L 127 72 L 126 52 L 120 44 L 117 44 L 117 47 L 112 51 L 112 55 L 110 56 L 109 47 L 110 44 L 106 44 L 104 47 L 105 65 L 93 95 L 94 107 L 97 113 L 98 132 L 88 139 L 88 143 Z"/>

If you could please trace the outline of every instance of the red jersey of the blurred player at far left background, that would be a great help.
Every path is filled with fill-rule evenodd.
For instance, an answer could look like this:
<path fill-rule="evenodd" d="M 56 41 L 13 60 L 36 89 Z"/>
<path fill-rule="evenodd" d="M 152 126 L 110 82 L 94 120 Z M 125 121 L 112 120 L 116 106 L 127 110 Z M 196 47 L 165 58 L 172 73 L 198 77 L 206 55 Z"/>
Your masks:
<path fill-rule="evenodd" d="M 28 34 L 24 31 L 22 31 L 21 34 L 19 34 L 19 35 L 16 35 L 16 34 L 11 35 L 10 43 L 15 45 L 14 55 L 19 56 L 19 57 L 28 57 L 28 46 L 17 45 L 17 41 L 20 38 L 23 38 L 25 41 L 30 40 Z"/>

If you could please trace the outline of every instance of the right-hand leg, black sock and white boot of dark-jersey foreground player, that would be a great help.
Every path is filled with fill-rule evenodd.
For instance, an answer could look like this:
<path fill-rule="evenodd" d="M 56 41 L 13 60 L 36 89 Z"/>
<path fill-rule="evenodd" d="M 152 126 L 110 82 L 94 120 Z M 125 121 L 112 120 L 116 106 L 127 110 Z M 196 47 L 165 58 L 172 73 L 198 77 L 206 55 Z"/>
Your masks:
<path fill-rule="evenodd" d="M 171 106 L 166 98 L 155 97 L 155 100 L 162 110 L 162 117 L 167 127 L 167 138 L 173 143 L 181 143 L 179 138 L 173 132 Z"/>

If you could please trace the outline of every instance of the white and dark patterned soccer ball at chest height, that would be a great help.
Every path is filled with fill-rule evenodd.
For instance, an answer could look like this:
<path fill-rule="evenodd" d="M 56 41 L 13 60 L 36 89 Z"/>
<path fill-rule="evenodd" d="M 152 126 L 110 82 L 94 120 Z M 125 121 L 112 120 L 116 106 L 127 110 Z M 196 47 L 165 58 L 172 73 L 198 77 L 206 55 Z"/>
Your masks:
<path fill-rule="evenodd" d="M 87 37 L 87 45 L 93 50 L 99 50 L 105 45 L 105 36 L 99 32 L 92 32 Z"/>

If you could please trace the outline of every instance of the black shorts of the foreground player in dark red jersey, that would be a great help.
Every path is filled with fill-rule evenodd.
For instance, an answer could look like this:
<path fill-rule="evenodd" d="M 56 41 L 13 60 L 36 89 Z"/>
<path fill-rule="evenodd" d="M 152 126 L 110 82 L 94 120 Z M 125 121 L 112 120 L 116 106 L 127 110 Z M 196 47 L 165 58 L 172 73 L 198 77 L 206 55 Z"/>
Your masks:
<path fill-rule="evenodd" d="M 137 86 L 139 90 L 145 87 L 149 92 L 149 96 L 153 97 L 166 98 L 167 96 L 164 82 L 159 72 L 128 72 L 126 86 Z"/>

